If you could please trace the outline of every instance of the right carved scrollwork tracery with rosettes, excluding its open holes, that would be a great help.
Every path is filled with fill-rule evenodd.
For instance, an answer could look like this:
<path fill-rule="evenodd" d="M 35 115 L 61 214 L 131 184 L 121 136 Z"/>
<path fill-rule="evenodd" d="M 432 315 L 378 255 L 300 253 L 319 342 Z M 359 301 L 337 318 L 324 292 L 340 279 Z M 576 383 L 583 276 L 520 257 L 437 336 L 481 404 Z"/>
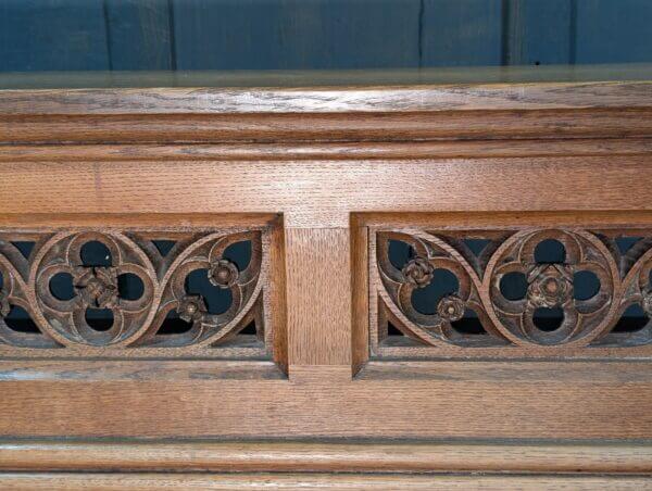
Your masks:
<path fill-rule="evenodd" d="M 487 232 L 488 244 L 474 253 L 465 238 L 481 232 L 466 234 L 375 234 L 380 324 L 389 322 L 408 338 L 434 347 L 559 349 L 652 343 L 651 239 L 637 238 L 636 247 L 622 252 L 617 231 L 492 230 Z M 402 265 L 390 260 L 389 244 L 397 241 L 410 248 Z M 546 242 L 560 246 L 563 257 L 538 260 L 536 251 Z M 432 293 L 435 304 L 417 309 L 417 290 L 432 288 L 442 269 L 454 276 L 455 288 Z M 589 295 L 578 294 L 584 287 L 578 289 L 577 278 L 582 274 L 598 284 Z M 523 285 L 516 297 L 503 292 L 504 280 L 514 275 Z M 640 305 L 648 315 L 647 325 L 636 332 L 619 332 L 614 328 L 631 305 Z M 539 316 L 548 312 L 561 316 L 552 328 L 539 323 Z M 461 328 L 469 319 L 479 324 L 481 332 Z M 376 342 L 381 342 L 381 327 L 376 336 Z"/>

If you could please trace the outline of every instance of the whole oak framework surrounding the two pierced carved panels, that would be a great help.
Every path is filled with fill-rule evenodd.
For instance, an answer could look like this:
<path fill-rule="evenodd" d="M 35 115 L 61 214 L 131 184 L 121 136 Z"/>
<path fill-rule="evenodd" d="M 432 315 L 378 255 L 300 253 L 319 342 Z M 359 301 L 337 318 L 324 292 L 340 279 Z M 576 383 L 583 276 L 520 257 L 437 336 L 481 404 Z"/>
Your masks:
<path fill-rule="evenodd" d="M 636 487 L 652 473 L 647 345 L 594 356 L 579 345 L 522 343 L 517 356 L 455 347 L 434 356 L 426 347 L 378 358 L 369 249 L 378 230 L 647 234 L 651 83 L 2 90 L 0 141 L 3 232 L 276 221 L 266 312 L 283 332 L 273 351 L 287 369 L 242 356 L 2 356 L 8 486 L 59 486 L 64 475 L 48 470 L 73 473 L 71 488 L 84 477 L 104 486 L 93 473 L 121 470 L 134 473 L 121 475 L 126 489 L 164 479 L 183 487 L 179 475 L 148 483 L 143 473 L 227 468 L 330 474 L 236 482 L 208 473 L 186 482 L 446 488 L 484 482 L 468 473 L 503 471 L 498 484 L 485 483 L 577 479 L 591 489 Z M 352 438 L 361 441 L 353 450 L 344 443 Z M 284 446 L 292 439 L 311 441 L 300 443 L 310 458 Z M 406 453 L 390 452 L 389 441 Z M 477 465 L 464 465 L 476 451 Z M 348 465 L 346 455 L 358 457 Z M 365 464 L 374 462 L 383 464 Z M 339 470 L 462 475 L 363 484 Z"/>

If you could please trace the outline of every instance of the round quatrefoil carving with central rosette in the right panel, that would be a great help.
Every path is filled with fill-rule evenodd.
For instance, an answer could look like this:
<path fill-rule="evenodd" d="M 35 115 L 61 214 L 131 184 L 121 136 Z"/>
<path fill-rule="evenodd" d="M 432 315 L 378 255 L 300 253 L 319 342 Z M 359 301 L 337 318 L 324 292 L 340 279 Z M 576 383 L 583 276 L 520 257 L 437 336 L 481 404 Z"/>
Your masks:
<path fill-rule="evenodd" d="M 535 249 L 544 240 L 561 242 L 565 250 L 563 263 L 536 261 Z M 588 300 L 574 298 L 574 275 L 582 270 L 593 273 L 600 281 L 600 290 Z M 605 326 L 616 270 L 609 250 L 594 236 L 568 230 L 519 232 L 506 240 L 489 262 L 489 309 L 496 315 L 497 327 L 514 341 L 550 345 L 589 339 Z M 526 275 L 527 294 L 521 300 L 509 300 L 502 294 L 500 282 L 515 272 Z M 556 329 L 537 325 L 535 313 L 540 307 L 563 311 Z"/>

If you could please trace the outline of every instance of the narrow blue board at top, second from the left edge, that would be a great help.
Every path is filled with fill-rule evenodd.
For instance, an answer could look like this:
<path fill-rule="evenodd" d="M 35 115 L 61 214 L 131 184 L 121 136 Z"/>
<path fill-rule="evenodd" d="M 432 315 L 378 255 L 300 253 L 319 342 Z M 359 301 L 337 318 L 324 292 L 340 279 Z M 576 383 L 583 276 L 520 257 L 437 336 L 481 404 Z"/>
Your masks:
<path fill-rule="evenodd" d="M 112 70 L 172 70 L 167 0 L 105 0 Z"/>

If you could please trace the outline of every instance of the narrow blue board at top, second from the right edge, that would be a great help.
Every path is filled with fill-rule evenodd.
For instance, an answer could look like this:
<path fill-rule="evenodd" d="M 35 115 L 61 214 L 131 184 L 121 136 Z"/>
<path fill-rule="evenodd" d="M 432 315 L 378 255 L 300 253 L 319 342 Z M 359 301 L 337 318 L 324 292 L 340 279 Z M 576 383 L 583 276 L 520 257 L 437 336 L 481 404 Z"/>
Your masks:
<path fill-rule="evenodd" d="M 510 65 L 569 63 L 573 1 L 509 0 L 505 62 Z"/>

